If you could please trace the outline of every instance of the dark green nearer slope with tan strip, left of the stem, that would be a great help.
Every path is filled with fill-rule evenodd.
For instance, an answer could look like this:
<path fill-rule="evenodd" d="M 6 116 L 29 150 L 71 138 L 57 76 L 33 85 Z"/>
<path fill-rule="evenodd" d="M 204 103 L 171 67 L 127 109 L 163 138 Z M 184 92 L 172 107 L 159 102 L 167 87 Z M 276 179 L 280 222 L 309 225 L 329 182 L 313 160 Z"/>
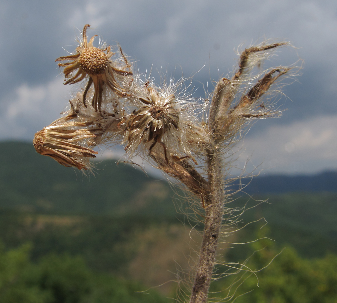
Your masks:
<path fill-rule="evenodd" d="M 34 261 L 50 253 L 81 255 L 95 270 L 124 274 L 137 249 L 130 243 L 131 235 L 162 221 L 161 217 L 45 216 L 0 210 L 0 239 L 8 248 L 30 241 Z"/>

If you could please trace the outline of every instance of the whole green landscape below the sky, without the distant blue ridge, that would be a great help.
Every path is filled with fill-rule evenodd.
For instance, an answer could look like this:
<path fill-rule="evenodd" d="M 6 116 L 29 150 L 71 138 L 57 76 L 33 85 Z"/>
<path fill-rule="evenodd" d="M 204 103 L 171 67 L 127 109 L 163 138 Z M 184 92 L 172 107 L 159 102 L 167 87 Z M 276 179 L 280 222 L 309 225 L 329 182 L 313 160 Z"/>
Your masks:
<path fill-rule="evenodd" d="M 189 254 L 198 249 L 200 235 L 176 213 L 181 205 L 173 202 L 178 195 L 168 183 L 113 160 L 97 163 L 95 176 L 84 176 L 37 154 L 30 143 L 0 142 L 0 192 L 0 297 L 6 303 L 168 302 L 156 291 L 151 299 L 135 291 L 164 283 L 157 290 L 174 297 L 175 284 L 165 282 L 176 279 L 177 267 L 188 268 Z M 253 198 L 242 193 L 230 206 L 248 201 L 249 208 L 268 199 L 240 218 L 242 225 L 260 218 L 268 225 L 250 224 L 229 241 L 276 242 L 234 245 L 222 251 L 224 260 L 243 262 L 255 251 L 251 266 L 261 266 L 283 247 L 289 250 L 261 273 L 259 291 L 247 294 L 247 302 L 299 302 L 299 288 L 308 294 L 302 295 L 305 302 L 335 302 L 337 194 Z M 323 277 L 327 288 L 317 284 Z M 256 288 L 254 277 L 247 281 L 244 292 Z M 226 283 L 212 284 L 215 296 L 223 298 Z M 63 301 L 50 299 L 61 295 Z"/>

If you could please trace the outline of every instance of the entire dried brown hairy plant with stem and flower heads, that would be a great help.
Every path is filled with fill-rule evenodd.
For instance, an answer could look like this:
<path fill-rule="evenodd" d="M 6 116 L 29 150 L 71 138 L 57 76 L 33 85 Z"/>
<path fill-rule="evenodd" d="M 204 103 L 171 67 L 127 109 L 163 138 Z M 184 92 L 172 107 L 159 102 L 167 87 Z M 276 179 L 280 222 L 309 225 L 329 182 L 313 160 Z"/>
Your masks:
<path fill-rule="evenodd" d="M 190 193 L 188 203 L 194 218 L 204 224 L 189 297 L 193 303 L 206 302 L 219 237 L 230 234 L 227 227 L 236 223 L 234 209 L 228 206 L 233 195 L 228 184 L 235 180 L 227 176 L 232 147 L 247 123 L 280 114 L 273 107 L 272 93 L 279 91 L 281 79 L 294 75 L 289 75 L 291 67 L 276 67 L 255 76 L 251 73 L 275 49 L 289 44 L 265 42 L 246 48 L 237 70 L 217 82 L 208 102 L 188 93 L 186 79 L 161 86 L 153 79 L 142 80 L 144 76 L 132 72 L 121 48 L 116 61 L 110 61 L 110 46 L 93 47 L 95 36 L 87 42 L 87 27 L 76 53 L 57 59 L 70 60 L 59 64 L 64 67 L 65 84 L 86 79 L 84 88 L 70 101 L 63 117 L 37 132 L 34 146 L 62 165 L 90 170 L 88 159 L 95 157 L 94 146 L 123 144 L 130 161 L 140 156 L 171 181 L 177 180 Z M 124 62 L 124 66 L 116 62 Z M 271 89 L 276 82 L 277 89 Z M 87 97 L 92 98 L 92 106 L 86 105 Z M 234 269 L 224 275 L 244 268 L 224 264 Z M 223 300 L 233 299 L 234 293 L 229 289 Z"/>

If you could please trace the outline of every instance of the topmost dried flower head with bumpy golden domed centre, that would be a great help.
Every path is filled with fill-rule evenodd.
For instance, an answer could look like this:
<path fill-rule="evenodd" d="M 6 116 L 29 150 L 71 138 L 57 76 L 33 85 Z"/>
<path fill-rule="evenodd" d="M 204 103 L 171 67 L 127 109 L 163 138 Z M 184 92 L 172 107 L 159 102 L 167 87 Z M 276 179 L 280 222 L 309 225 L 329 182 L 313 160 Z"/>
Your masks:
<path fill-rule="evenodd" d="M 76 48 L 75 54 L 70 56 L 64 56 L 56 59 L 56 61 L 70 60 L 67 63 L 59 63 L 60 67 L 64 67 L 63 73 L 65 74 L 65 83 L 71 84 L 82 81 L 87 75 L 89 81 L 83 93 L 83 103 L 86 106 L 87 92 L 92 84 L 94 84 L 94 96 L 92 99 L 92 106 L 97 111 L 101 111 L 102 95 L 104 84 L 107 85 L 118 96 L 127 96 L 126 90 L 121 86 L 122 80 L 119 80 L 119 76 L 130 76 L 132 71 L 130 65 L 123 55 L 120 48 L 121 55 L 125 62 L 124 67 L 118 67 L 116 63 L 110 60 L 114 54 L 111 51 L 111 47 L 108 46 L 105 49 L 100 49 L 93 46 L 94 39 L 97 35 L 91 37 L 90 41 L 87 40 L 87 28 L 90 27 L 86 24 L 83 28 L 83 40 L 81 46 Z M 73 75 L 73 73 L 75 75 Z"/>

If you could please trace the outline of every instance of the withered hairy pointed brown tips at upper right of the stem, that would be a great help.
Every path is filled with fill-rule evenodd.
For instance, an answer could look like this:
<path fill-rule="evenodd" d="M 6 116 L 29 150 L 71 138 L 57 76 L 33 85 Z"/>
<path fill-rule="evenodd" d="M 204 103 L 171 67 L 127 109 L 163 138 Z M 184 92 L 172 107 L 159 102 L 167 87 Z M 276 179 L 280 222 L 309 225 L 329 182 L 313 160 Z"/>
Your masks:
<path fill-rule="evenodd" d="M 240 56 L 239 68 L 232 79 L 219 80 L 213 92 L 209 113 L 211 131 L 217 141 L 228 140 L 235 136 L 242 125 L 248 121 L 247 119 L 265 118 L 277 114 L 268 107 L 268 104 L 258 102 L 270 90 L 271 85 L 291 68 L 278 67 L 267 70 L 253 86 L 250 86 L 250 83 L 255 78 L 246 78 L 249 71 L 255 66 L 260 67 L 261 62 L 268 58 L 269 50 L 283 45 L 288 43 L 262 44 L 246 48 Z M 246 83 L 245 89 L 241 91 L 240 86 L 243 83 Z M 238 101 L 235 102 L 236 100 Z"/>

